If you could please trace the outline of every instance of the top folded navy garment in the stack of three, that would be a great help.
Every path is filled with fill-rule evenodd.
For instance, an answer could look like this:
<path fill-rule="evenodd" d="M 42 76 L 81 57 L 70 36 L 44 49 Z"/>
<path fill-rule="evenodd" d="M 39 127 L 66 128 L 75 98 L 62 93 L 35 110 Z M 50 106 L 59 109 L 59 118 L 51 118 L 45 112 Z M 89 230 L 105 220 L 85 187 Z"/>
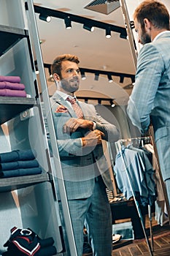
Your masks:
<path fill-rule="evenodd" d="M 13 162 L 19 160 L 32 160 L 36 157 L 36 151 L 28 150 L 14 150 L 0 154 L 0 162 Z"/>

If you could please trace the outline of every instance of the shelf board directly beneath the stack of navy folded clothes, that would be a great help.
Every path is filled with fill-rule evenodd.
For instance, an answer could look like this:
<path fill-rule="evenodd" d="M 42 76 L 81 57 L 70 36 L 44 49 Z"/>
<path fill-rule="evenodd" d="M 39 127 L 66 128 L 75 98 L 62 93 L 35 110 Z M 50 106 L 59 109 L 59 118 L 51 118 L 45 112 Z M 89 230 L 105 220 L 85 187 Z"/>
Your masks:
<path fill-rule="evenodd" d="M 50 181 L 48 173 L 12 178 L 0 178 L 0 192 L 9 192 L 15 189 L 33 186 L 41 182 Z"/>

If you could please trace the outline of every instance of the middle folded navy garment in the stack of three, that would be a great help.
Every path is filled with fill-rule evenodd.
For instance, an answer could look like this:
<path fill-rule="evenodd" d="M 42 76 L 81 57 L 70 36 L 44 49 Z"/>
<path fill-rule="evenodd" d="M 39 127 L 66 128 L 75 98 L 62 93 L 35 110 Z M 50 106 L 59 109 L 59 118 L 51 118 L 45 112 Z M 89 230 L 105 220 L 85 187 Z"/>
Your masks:
<path fill-rule="evenodd" d="M 36 159 L 15 162 L 1 162 L 0 170 L 15 170 L 20 168 L 39 167 L 39 162 Z"/>

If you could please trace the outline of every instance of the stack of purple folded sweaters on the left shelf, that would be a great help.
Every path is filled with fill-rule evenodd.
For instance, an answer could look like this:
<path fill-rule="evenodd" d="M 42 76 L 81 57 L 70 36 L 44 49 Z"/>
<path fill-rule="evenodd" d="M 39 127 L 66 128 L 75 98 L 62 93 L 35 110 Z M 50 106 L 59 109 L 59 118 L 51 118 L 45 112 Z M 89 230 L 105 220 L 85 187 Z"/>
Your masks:
<path fill-rule="evenodd" d="M 26 97 L 25 86 L 19 76 L 0 75 L 0 97 Z"/>

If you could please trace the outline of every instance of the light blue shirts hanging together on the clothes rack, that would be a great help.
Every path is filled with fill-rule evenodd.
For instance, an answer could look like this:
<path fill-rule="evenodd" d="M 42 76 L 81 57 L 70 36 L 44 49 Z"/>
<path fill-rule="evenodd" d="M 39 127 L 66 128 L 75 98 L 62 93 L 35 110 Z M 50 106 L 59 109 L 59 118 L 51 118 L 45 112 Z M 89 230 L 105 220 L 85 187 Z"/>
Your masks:
<path fill-rule="evenodd" d="M 149 159 L 144 161 L 138 151 L 122 146 L 115 159 L 114 171 L 117 186 L 127 199 L 134 193 L 140 197 L 155 197 L 154 170 Z"/>

